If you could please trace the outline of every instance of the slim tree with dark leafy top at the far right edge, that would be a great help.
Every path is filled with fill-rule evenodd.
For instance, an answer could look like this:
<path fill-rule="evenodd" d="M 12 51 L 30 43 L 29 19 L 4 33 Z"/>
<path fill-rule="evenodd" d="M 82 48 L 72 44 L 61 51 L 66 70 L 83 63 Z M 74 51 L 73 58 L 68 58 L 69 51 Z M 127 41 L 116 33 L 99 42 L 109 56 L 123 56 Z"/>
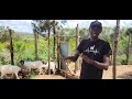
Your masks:
<path fill-rule="evenodd" d="M 131 35 L 132 35 L 132 28 L 128 29 L 125 34 L 128 35 L 128 47 L 127 47 L 127 64 L 129 64 L 129 53 L 130 53 L 130 43 L 131 43 Z"/>

